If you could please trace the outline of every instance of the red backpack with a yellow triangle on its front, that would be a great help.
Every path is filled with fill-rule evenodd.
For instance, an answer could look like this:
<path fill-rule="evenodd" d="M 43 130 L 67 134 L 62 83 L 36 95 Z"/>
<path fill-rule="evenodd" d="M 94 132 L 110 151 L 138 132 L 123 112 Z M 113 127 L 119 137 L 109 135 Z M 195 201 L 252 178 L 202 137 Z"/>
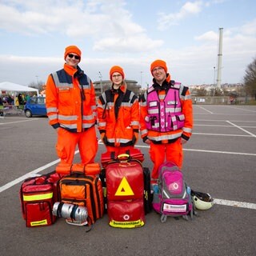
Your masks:
<path fill-rule="evenodd" d="M 144 178 L 141 162 L 119 155 L 118 159 L 107 164 L 106 201 L 110 226 L 144 226 Z"/>

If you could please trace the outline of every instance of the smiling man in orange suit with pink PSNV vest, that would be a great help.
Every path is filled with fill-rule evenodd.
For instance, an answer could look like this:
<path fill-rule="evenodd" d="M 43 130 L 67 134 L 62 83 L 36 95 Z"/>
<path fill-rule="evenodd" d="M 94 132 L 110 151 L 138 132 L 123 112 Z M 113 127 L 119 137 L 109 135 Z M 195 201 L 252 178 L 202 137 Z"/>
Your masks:
<path fill-rule="evenodd" d="M 163 162 L 182 168 L 182 144 L 192 134 L 193 111 L 189 88 L 170 80 L 166 62 L 155 60 L 150 71 L 153 85 L 140 99 L 140 130 L 143 142 L 150 145 L 154 183 Z"/>

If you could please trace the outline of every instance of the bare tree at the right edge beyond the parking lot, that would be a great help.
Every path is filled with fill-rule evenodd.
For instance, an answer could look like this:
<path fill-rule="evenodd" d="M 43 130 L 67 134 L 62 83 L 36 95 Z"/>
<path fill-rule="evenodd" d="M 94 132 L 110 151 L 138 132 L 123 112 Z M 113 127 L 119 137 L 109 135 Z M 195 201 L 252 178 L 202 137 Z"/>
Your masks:
<path fill-rule="evenodd" d="M 243 79 L 246 92 L 256 100 L 256 58 L 247 66 L 246 74 Z"/>

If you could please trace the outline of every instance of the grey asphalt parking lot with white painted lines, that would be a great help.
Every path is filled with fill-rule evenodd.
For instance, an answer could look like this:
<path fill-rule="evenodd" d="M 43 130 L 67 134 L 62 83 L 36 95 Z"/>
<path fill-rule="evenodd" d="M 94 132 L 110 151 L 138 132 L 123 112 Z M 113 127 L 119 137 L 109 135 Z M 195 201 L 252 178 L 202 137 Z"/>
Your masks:
<path fill-rule="evenodd" d="M 184 147 L 182 171 L 194 190 L 214 198 L 192 221 L 154 212 L 146 225 L 116 229 L 107 215 L 86 233 L 59 218 L 52 226 L 26 228 L 19 202 L 22 181 L 58 164 L 56 132 L 47 118 L 0 118 L 1 255 L 255 255 L 256 106 L 194 105 L 194 133 Z M 143 166 L 152 167 L 148 146 Z M 104 152 L 99 142 L 96 161 Z M 75 155 L 79 162 L 79 154 Z"/>

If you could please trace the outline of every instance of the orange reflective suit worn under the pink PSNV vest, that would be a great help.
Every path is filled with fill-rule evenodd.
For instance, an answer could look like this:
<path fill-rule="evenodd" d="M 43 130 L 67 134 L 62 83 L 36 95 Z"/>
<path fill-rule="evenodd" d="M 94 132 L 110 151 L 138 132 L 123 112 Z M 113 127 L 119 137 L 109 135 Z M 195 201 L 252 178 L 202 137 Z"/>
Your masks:
<path fill-rule="evenodd" d="M 181 138 L 189 140 L 192 134 L 192 101 L 190 99 L 190 91 L 186 86 L 179 88 L 179 99 L 177 99 L 181 102 L 181 111 L 185 117 L 184 126 L 178 130 L 166 132 L 160 131 L 160 128 L 159 130 L 150 130 L 146 126 L 150 104 L 150 102 L 147 102 L 149 91 L 154 90 L 158 93 L 158 103 L 155 104 L 160 106 L 160 102 L 164 101 L 168 90 L 177 90 L 172 87 L 172 84 L 174 84 L 174 81 L 170 82 L 170 75 L 167 74 L 166 81 L 163 82 L 162 86 L 154 83 L 153 87 L 150 87 L 140 98 L 140 130 L 144 142 L 147 138 L 150 139 L 150 158 L 154 163 L 154 168 L 151 173 L 153 182 L 155 179 L 158 179 L 158 168 L 164 161 L 174 162 L 177 166 L 182 168 L 183 152 Z"/>

